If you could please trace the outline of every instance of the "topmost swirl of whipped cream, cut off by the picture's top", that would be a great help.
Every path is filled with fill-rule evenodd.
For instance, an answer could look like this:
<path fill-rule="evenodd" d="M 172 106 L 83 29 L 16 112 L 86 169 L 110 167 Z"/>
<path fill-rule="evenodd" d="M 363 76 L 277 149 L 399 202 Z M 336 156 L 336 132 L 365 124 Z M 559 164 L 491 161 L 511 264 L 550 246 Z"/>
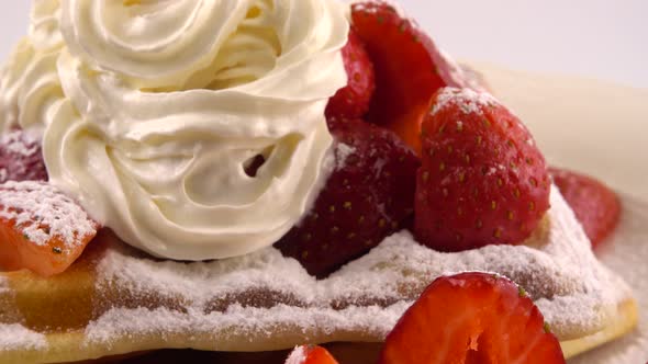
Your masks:
<path fill-rule="evenodd" d="M 133 87 L 227 89 L 335 50 L 343 15 L 332 0 L 69 0 L 62 32 L 71 54 Z"/>

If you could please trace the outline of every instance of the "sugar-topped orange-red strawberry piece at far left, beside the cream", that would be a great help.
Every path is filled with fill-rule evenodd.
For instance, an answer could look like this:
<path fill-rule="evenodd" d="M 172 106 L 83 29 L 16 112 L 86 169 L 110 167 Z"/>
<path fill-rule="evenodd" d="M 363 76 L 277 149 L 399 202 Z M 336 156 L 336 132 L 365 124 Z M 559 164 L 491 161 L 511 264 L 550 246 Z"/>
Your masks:
<path fill-rule="evenodd" d="M 45 182 L 0 185 L 0 271 L 62 273 L 97 229 L 80 206 Z"/>

